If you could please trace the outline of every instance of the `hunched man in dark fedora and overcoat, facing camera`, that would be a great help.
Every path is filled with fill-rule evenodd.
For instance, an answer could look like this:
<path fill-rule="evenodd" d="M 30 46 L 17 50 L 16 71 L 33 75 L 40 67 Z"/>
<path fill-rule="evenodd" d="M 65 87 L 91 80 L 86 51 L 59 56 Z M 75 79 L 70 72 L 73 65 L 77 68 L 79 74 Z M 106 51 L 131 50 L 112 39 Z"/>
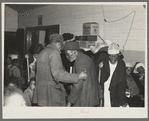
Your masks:
<path fill-rule="evenodd" d="M 98 82 L 94 63 L 90 57 L 83 54 L 78 42 L 66 42 L 64 45 L 66 57 L 74 62 L 72 73 L 80 74 L 83 70 L 87 73 L 85 81 L 73 84 L 68 97 L 67 106 L 94 107 L 99 105 Z"/>

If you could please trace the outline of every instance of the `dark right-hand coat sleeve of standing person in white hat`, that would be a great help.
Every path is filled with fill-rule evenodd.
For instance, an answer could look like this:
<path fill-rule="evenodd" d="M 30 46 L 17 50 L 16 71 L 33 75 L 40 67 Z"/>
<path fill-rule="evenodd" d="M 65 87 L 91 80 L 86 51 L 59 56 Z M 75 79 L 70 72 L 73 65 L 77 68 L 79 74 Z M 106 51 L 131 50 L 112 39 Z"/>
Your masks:
<path fill-rule="evenodd" d="M 119 72 L 119 80 L 121 80 L 121 82 L 118 85 L 118 97 L 119 97 L 119 105 L 125 105 L 126 103 L 126 96 L 125 96 L 125 91 L 126 91 L 126 67 L 125 67 L 125 63 L 123 63 L 122 68 L 120 69 Z"/>

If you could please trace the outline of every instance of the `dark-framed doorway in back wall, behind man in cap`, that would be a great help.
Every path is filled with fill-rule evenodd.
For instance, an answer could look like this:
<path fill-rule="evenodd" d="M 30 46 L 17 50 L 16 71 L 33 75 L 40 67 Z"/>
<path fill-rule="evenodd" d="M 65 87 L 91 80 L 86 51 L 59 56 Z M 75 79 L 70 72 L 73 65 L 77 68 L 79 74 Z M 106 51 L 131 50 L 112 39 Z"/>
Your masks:
<path fill-rule="evenodd" d="M 59 34 L 59 28 L 59 25 L 27 27 L 24 52 L 28 53 L 29 48 L 36 44 L 42 44 L 45 47 L 51 34 Z"/>

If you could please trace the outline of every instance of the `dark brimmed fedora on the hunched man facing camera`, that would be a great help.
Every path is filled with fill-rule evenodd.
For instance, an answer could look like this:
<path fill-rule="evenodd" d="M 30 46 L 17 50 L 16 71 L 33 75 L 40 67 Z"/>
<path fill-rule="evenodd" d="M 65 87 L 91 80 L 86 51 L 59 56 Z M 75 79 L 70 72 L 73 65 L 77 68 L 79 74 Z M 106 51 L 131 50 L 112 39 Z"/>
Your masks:
<path fill-rule="evenodd" d="M 79 42 L 66 42 L 63 50 L 81 50 Z"/>

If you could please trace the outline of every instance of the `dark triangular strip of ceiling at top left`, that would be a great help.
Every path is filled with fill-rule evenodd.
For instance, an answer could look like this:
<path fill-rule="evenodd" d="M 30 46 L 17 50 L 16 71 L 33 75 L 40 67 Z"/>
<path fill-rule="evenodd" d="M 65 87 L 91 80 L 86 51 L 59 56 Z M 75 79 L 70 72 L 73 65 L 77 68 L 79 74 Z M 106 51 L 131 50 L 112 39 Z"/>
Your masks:
<path fill-rule="evenodd" d="M 18 13 L 31 10 L 37 7 L 46 6 L 46 5 L 39 5 L 39 4 L 5 4 L 5 5 L 17 11 Z"/>

